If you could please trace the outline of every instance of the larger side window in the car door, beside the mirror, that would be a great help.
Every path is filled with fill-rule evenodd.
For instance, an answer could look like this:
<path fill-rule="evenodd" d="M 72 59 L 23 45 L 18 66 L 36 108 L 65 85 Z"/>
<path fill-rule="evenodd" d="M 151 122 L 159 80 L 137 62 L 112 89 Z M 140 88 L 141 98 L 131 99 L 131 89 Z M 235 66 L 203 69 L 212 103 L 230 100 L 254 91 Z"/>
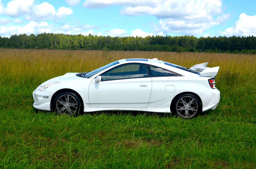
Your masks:
<path fill-rule="evenodd" d="M 102 81 L 147 77 L 146 66 L 143 64 L 126 64 L 106 71 L 101 75 Z"/>

